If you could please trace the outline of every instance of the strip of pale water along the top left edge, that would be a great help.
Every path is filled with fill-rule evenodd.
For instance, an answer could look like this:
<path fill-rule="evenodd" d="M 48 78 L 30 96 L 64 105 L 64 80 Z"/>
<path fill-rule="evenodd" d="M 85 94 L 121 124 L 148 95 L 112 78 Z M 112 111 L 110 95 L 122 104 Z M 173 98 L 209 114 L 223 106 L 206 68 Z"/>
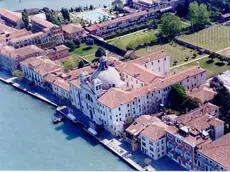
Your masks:
<path fill-rule="evenodd" d="M 0 8 L 9 10 L 19 10 L 24 8 L 43 8 L 49 7 L 60 10 L 62 7 L 71 8 L 79 5 L 85 6 L 93 4 L 96 7 L 102 7 L 104 4 L 109 6 L 112 0 L 0 0 Z"/>

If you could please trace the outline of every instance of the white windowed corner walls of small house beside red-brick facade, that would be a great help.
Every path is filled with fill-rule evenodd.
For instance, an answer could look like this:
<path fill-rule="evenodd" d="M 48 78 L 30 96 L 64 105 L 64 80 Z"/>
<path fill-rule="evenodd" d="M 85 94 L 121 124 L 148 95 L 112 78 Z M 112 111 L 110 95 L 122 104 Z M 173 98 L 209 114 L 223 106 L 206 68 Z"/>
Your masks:
<path fill-rule="evenodd" d="M 141 151 L 154 160 L 158 160 L 166 155 L 166 138 L 162 137 L 157 141 L 153 141 L 148 137 L 140 135 Z"/>

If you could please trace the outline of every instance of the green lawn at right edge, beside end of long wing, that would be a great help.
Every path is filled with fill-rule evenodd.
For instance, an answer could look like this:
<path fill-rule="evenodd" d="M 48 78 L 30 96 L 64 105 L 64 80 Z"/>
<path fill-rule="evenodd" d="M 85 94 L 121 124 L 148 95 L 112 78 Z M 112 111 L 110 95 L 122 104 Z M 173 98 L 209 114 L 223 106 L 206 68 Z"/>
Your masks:
<path fill-rule="evenodd" d="M 213 63 L 210 63 L 209 58 L 204 58 L 202 60 L 199 60 L 200 66 L 204 69 L 207 70 L 207 77 L 210 78 L 214 75 L 220 74 L 222 72 L 225 72 L 227 70 L 230 70 L 230 66 L 225 62 L 224 65 L 221 64 L 221 62 L 218 59 L 215 59 Z M 184 65 L 180 67 L 180 69 L 195 66 L 197 62 L 189 63 L 187 65 Z M 175 70 L 180 70 L 180 69 L 174 69 L 171 72 Z"/>

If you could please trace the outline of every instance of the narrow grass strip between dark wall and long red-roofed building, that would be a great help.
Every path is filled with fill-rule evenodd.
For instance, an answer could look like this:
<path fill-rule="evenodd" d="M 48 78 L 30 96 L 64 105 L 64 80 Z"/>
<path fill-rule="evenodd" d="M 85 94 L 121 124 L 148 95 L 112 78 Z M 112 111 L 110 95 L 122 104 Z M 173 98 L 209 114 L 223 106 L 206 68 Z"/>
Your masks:
<path fill-rule="evenodd" d="M 118 38 L 108 40 L 107 42 L 126 50 L 126 47 L 129 43 L 135 42 L 137 39 L 151 37 L 151 36 L 155 35 L 155 32 L 156 32 L 156 30 L 138 31 L 138 32 L 129 34 L 127 36 L 121 36 Z"/>

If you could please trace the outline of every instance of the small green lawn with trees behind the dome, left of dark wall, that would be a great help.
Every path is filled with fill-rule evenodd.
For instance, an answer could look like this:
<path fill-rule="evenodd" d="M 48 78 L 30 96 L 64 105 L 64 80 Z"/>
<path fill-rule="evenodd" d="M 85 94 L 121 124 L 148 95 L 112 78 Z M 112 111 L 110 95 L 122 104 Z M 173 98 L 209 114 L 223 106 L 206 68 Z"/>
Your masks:
<path fill-rule="evenodd" d="M 99 47 L 97 45 L 89 47 L 86 44 L 81 44 L 79 48 L 76 48 L 74 51 L 70 52 L 70 55 L 78 55 L 83 57 L 90 54 L 94 54 L 98 48 Z"/>

